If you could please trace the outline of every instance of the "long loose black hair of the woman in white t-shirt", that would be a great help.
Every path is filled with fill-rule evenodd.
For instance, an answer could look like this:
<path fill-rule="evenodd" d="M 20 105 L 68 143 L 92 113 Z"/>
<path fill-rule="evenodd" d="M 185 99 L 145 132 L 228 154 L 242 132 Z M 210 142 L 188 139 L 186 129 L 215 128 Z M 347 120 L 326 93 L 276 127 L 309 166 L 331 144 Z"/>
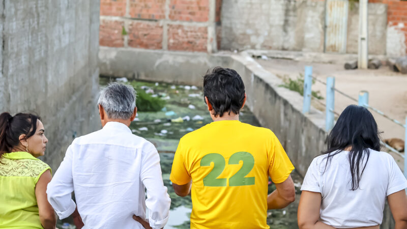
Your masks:
<path fill-rule="evenodd" d="M 322 154 L 328 154 L 328 161 L 340 151 L 352 147 L 348 160 L 352 176 L 352 190 L 359 188 L 367 161 L 369 149 L 380 151 L 380 136 L 377 124 L 370 111 L 363 106 L 347 106 L 338 118 L 334 128 L 328 135 L 328 150 Z M 366 162 L 364 164 L 363 161 Z"/>

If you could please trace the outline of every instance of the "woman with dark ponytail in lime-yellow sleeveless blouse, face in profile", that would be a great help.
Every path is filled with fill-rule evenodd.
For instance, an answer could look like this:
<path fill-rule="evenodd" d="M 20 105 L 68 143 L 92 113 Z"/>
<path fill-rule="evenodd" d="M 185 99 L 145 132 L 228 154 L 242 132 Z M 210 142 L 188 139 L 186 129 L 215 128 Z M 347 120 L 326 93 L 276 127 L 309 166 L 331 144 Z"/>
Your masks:
<path fill-rule="evenodd" d="M 55 228 L 46 188 L 51 168 L 37 157 L 48 139 L 30 113 L 0 115 L 0 228 Z"/>

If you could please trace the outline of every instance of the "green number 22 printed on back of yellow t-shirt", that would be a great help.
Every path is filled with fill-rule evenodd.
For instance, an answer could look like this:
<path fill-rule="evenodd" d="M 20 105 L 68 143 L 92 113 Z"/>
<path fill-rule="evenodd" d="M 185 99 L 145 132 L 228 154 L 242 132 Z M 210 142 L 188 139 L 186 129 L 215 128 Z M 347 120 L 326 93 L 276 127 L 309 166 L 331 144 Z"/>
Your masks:
<path fill-rule="evenodd" d="M 253 155 L 248 152 L 234 153 L 230 156 L 228 164 L 239 164 L 240 161 L 243 161 L 243 166 L 235 175 L 229 178 L 229 186 L 254 185 L 254 177 L 245 177 L 250 173 L 251 169 L 253 169 Z M 225 158 L 216 153 L 207 154 L 200 160 L 200 166 L 211 166 L 211 162 L 214 163 L 213 169 L 205 178 L 203 178 L 203 185 L 225 187 L 226 178 L 218 178 L 225 168 Z"/>

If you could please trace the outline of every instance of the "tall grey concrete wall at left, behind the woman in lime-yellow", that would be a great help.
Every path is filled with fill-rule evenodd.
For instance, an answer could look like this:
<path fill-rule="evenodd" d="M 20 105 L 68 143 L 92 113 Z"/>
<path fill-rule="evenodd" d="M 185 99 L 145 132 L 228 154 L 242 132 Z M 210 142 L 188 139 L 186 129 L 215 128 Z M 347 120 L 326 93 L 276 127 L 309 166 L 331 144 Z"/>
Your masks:
<path fill-rule="evenodd" d="M 73 135 L 97 128 L 99 0 L 3 0 L 0 111 L 35 111 L 59 166 Z"/>

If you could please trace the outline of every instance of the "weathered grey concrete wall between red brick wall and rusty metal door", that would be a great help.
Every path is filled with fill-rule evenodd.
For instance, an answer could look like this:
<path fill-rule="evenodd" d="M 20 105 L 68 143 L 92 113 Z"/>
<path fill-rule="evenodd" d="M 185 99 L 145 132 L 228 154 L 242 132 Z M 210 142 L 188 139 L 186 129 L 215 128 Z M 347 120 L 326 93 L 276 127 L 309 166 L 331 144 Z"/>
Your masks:
<path fill-rule="evenodd" d="M 221 49 L 324 51 L 324 2 L 223 0 L 221 22 Z"/>

